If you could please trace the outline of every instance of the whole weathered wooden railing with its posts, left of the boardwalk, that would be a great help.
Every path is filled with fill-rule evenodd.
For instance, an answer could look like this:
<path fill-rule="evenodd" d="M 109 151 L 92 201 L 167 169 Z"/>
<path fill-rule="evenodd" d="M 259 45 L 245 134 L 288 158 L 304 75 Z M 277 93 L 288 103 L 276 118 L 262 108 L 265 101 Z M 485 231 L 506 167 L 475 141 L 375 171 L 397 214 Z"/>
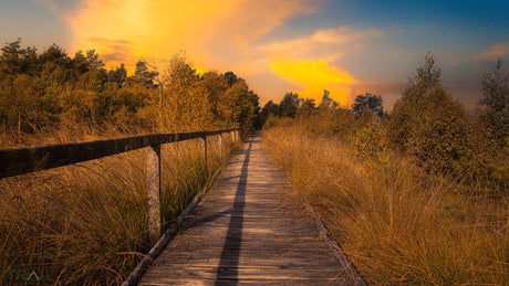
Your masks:
<path fill-rule="evenodd" d="M 160 145 L 200 138 L 201 151 L 205 162 L 207 162 L 207 137 L 219 135 L 219 150 L 222 158 L 222 135 L 225 133 L 231 135 L 232 140 L 239 139 L 239 129 L 230 128 L 198 133 L 150 134 L 76 144 L 3 148 L 0 149 L 0 179 L 148 147 L 146 165 L 148 232 L 150 242 L 156 242 L 162 233 L 159 211 Z"/>

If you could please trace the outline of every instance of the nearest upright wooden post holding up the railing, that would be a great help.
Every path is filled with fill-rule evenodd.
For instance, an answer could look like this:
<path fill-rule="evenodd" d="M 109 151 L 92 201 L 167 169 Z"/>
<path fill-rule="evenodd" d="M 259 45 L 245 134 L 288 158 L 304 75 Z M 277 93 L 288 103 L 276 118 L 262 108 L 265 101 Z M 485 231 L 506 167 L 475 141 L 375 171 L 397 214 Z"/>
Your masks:
<path fill-rule="evenodd" d="M 155 244 L 160 235 L 160 145 L 147 149 L 148 240 Z"/>

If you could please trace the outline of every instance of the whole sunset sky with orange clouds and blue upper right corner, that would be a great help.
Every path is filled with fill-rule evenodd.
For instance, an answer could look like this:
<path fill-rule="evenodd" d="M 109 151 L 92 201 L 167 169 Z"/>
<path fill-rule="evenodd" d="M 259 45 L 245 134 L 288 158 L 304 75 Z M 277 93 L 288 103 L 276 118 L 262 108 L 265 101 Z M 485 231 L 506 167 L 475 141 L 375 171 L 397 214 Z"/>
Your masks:
<path fill-rule="evenodd" d="M 144 57 L 163 71 L 185 51 L 198 71 L 233 71 L 261 104 L 287 92 L 351 104 L 366 92 L 391 109 L 429 51 L 467 107 L 506 59 L 509 1 L 1 0 L 0 41 L 41 52 L 95 49 L 108 66 Z"/>

